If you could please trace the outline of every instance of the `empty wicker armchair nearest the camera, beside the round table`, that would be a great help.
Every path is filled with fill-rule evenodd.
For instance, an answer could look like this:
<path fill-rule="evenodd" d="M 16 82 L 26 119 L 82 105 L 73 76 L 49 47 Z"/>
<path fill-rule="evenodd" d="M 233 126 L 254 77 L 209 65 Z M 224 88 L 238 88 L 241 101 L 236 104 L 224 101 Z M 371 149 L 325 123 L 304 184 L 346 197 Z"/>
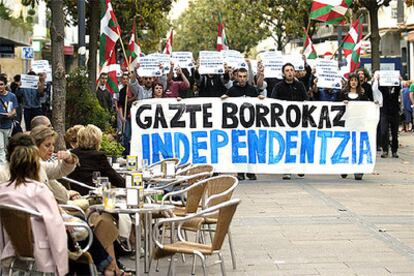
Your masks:
<path fill-rule="evenodd" d="M 171 272 L 175 275 L 175 254 L 191 254 L 198 256 L 201 259 L 202 268 L 204 275 L 207 275 L 207 268 L 205 263 L 205 256 L 218 254 L 221 266 L 221 272 L 223 275 L 226 274 L 223 255 L 221 254 L 221 247 L 223 245 L 224 239 L 226 237 L 227 231 L 233 219 L 234 213 L 236 211 L 237 205 L 240 203 L 239 199 L 233 199 L 214 207 L 207 208 L 199 213 L 195 213 L 186 217 L 174 217 L 159 220 L 153 231 L 153 239 L 155 241 L 156 250 L 154 251 L 153 258 L 160 259 L 163 257 L 171 256 L 169 273 Z M 216 214 L 216 231 L 214 238 L 211 244 L 202 244 L 197 242 L 187 241 L 181 234 L 182 226 L 187 222 L 194 220 L 196 218 L 206 218 Z M 172 241 L 170 244 L 164 244 L 160 241 L 160 231 L 159 229 L 164 224 L 170 224 L 171 229 L 175 229 L 174 225 L 177 225 L 177 235 L 178 241 Z M 174 232 L 174 231 L 172 231 Z M 172 233 L 173 235 L 173 233 Z"/>

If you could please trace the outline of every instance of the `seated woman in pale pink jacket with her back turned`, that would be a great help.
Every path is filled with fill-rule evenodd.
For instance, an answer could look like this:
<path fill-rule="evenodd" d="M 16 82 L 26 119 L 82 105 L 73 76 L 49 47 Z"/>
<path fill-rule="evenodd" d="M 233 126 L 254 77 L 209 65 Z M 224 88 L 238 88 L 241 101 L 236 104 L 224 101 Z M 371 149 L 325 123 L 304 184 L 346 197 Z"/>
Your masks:
<path fill-rule="evenodd" d="M 40 160 L 37 147 L 19 146 L 10 157 L 10 180 L 0 184 L 0 202 L 35 210 L 43 220 L 33 219 L 36 270 L 66 275 L 68 269 L 67 235 L 56 200 L 49 188 L 40 182 Z M 7 235 L 0 231 L 1 260 L 15 255 Z"/>

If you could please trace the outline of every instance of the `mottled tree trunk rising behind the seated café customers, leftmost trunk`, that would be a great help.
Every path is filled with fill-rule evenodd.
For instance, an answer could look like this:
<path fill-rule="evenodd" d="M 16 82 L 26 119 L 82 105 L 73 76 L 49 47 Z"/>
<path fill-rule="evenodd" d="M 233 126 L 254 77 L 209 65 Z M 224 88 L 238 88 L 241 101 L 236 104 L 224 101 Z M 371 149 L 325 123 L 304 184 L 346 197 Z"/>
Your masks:
<path fill-rule="evenodd" d="M 56 141 L 56 149 L 65 149 L 63 135 L 65 133 L 65 106 L 66 106 L 66 79 L 64 50 L 65 13 L 63 1 L 51 0 L 52 24 L 50 33 L 52 36 L 52 71 L 53 71 L 53 101 L 52 124 L 59 134 Z"/>

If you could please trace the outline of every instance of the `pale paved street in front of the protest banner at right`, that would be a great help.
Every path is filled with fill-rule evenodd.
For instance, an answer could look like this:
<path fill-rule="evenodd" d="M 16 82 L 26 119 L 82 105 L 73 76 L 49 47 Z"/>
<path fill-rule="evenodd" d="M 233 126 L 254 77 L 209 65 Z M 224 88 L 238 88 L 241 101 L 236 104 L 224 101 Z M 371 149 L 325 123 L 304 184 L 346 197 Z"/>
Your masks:
<path fill-rule="evenodd" d="M 262 175 L 241 182 L 231 227 L 237 270 L 223 246 L 228 274 L 414 275 L 414 136 L 401 136 L 400 158 L 377 159 L 363 181 Z M 216 259 L 208 259 L 211 275 L 220 275 Z M 189 275 L 190 263 L 177 258 L 177 274 Z M 167 264 L 151 274 L 165 275 Z"/>

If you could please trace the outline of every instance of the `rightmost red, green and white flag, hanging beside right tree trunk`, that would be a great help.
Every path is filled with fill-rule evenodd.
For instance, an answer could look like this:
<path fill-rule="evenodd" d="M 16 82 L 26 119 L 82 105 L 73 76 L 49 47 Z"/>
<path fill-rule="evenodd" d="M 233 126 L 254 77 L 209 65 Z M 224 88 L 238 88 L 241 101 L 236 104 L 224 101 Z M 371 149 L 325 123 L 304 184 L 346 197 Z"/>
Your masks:
<path fill-rule="evenodd" d="M 362 43 L 362 24 L 359 20 L 355 21 L 342 43 L 344 57 L 347 60 L 347 71 L 355 72 L 359 68 Z"/>

